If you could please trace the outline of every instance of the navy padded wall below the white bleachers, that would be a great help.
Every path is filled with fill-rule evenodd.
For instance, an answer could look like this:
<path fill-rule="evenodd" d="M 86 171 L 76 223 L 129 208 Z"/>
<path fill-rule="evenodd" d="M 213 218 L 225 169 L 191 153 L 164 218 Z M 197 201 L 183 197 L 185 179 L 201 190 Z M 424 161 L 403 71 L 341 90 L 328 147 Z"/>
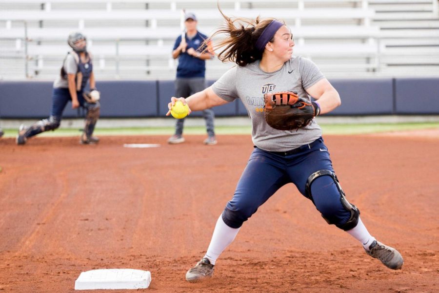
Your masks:
<path fill-rule="evenodd" d="M 341 106 L 327 115 L 439 114 L 439 78 L 331 79 Z M 211 85 L 214 81 L 208 81 Z M 52 82 L 0 81 L 0 117 L 45 118 L 50 114 Z M 98 81 L 101 117 L 163 117 L 174 95 L 174 81 Z M 250 85 L 249 85 L 250 86 Z M 68 104 L 63 117 L 83 116 Z M 218 117 L 247 116 L 241 102 L 214 108 Z M 193 112 L 192 116 L 201 116 Z"/>

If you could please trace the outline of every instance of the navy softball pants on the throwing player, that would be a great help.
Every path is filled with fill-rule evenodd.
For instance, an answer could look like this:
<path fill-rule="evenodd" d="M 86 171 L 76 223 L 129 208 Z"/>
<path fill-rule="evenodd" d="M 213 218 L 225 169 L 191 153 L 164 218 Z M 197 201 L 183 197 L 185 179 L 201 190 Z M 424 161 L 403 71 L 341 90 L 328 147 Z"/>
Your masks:
<path fill-rule="evenodd" d="M 334 172 L 328 148 L 319 138 L 310 145 L 300 146 L 297 153 L 269 152 L 255 147 L 239 179 L 233 198 L 222 212 L 224 223 L 239 228 L 279 188 L 294 183 L 305 195 L 308 177 L 319 170 Z M 311 185 L 314 204 L 320 213 L 335 224 L 346 223 L 351 212 L 344 209 L 340 193 L 329 175 L 316 178 Z"/>

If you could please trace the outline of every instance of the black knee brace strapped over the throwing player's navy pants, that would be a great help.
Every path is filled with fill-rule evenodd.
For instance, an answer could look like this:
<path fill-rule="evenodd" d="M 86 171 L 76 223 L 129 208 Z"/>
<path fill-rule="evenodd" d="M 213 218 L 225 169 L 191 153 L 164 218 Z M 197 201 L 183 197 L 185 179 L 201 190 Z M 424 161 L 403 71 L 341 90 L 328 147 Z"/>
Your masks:
<path fill-rule="evenodd" d="M 349 220 L 347 220 L 346 223 L 342 224 L 342 225 L 338 225 L 336 223 L 332 223 L 329 219 L 325 218 L 323 215 L 321 215 L 323 217 L 323 219 L 325 219 L 325 221 L 328 224 L 334 224 L 336 225 L 338 228 L 342 229 L 342 230 L 351 230 L 352 228 L 356 227 L 358 224 L 358 219 L 359 219 L 359 209 L 354 206 L 353 204 L 349 203 L 346 199 L 346 196 L 343 192 L 343 189 L 341 189 L 340 183 L 339 183 L 339 179 L 337 179 L 337 176 L 334 172 L 330 171 L 330 170 L 319 170 L 313 174 L 311 174 L 308 177 L 308 180 L 306 181 L 306 185 L 305 185 L 305 194 L 306 197 L 309 198 L 313 204 L 314 204 L 314 200 L 313 200 L 313 195 L 311 194 L 311 184 L 313 183 L 313 181 L 323 175 L 329 175 L 331 176 L 331 178 L 334 180 L 337 189 L 339 190 L 340 193 L 340 202 L 341 205 L 343 206 L 344 209 L 346 209 L 347 211 L 351 212 L 351 217 L 349 218 Z"/>

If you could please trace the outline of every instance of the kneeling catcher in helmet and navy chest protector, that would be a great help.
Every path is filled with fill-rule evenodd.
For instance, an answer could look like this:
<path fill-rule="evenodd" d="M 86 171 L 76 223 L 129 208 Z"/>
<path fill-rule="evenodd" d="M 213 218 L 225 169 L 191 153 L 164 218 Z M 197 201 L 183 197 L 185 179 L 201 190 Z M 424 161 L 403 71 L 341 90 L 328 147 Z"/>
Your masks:
<path fill-rule="evenodd" d="M 62 112 L 69 100 L 72 101 L 72 109 L 81 106 L 87 111 L 80 143 L 96 144 L 99 142 L 99 139 L 93 136 L 93 131 L 100 115 L 100 93 L 96 90 L 93 63 L 87 52 L 86 38 L 81 33 L 72 33 L 67 42 L 73 50 L 67 53 L 60 75 L 53 84 L 50 116 L 29 127 L 21 125 L 17 135 L 17 145 L 24 145 L 28 138 L 43 131 L 57 129 L 60 126 Z M 89 80 L 91 91 L 85 92 L 84 88 Z"/>

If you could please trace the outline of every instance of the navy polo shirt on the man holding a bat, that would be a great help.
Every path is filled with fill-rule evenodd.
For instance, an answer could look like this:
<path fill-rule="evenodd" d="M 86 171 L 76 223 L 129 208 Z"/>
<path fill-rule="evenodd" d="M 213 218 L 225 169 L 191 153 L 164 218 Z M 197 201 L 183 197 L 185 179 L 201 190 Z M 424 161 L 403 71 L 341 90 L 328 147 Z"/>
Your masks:
<path fill-rule="evenodd" d="M 200 58 L 193 57 L 187 54 L 187 49 L 194 48 L 198 52 L 202 52 L 206 46 L 202 46 L 204 40 L 207 39 L 206 35 L 201 34 L 197 31 L 197 34 L 189 39 L 186 35 L 186 51 L 180 52 L 179 65 L 177 66 L 177 77 L 188 78 L 188 77 L 204 77 L 206 72 L 206 62 Z M 174 49 L 180 45 L 181 35 L 175 40 Z"/>

